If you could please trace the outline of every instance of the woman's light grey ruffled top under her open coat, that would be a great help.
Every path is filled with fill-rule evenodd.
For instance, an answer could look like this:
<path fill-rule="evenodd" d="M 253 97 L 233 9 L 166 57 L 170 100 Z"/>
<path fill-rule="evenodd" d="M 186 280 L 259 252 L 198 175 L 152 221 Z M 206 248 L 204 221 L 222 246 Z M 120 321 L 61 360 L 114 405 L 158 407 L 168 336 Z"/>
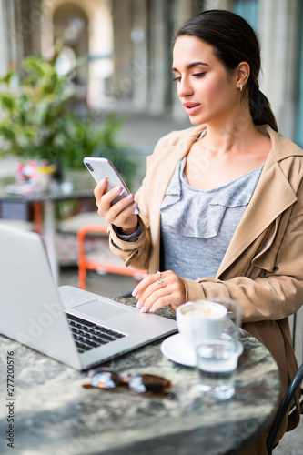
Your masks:
<path fill-rule="evenodd" d="M 209 190 L 191 187 L 178 164 L 160 207 L 164 270 L 179 277 L 216 277 L 263 166 Z"/>

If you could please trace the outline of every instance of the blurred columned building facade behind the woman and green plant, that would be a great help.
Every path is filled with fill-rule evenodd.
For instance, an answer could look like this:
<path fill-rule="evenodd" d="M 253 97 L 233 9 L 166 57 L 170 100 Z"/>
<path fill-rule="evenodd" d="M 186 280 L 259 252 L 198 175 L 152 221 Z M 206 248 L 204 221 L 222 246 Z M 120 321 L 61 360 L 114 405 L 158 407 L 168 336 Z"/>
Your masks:
<path fill-rule="evenodd" d="M 262 45 L 260 88 L 282 134 L 303 145 L 303 15 L 301 0 L 0 0 L 0 76 L 25 56 L 54 54 L 72 77 L 77 113 L 136 112 L 186 124 L 171 82 L 174 29 L 204 9 L 244 16 Z M 136 138 L 134 137 L 134 140 Z"/>

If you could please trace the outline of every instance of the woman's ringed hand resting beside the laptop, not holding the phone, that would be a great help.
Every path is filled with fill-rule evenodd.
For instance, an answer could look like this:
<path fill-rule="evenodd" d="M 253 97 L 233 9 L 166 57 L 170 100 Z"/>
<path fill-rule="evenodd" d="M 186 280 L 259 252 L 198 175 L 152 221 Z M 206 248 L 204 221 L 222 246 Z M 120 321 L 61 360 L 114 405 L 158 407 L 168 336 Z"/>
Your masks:
<path fill-rule="evenodd" d="M 181 278 L 171 270 L 145 275 L 136 286 L 132 295 L 138 298 L 136 308 L 154 312 L 164 305 L 175 308 L 185 303 L 186 288 Z"/>

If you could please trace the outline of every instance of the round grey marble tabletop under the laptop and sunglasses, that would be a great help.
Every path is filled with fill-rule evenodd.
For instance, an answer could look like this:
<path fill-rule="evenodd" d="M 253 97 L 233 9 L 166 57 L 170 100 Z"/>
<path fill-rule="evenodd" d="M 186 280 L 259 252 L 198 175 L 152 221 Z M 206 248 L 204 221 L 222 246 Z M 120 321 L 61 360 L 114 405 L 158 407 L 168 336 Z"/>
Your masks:
<path fill-rule="evenodd" d="M 133 298 L 119 301 L 135 303 Z M 168 308 L 159 313 L 174 318 Z M 278 367 L 268 350 L 245 331 L 241 339 L 244 351 L 237 368 L 236 394 L 219 402 L 198 392 L 196 369 L 161 354 L 161 340 L 106 365 L 170 379 L 172 399 L 141 396 L 130 389 L 84 389 L 86 372 L 0 336 L 0 453 L 236 454 L 266 428 L 280 389 Z M 14 400 L 7 391 L 7 352 L 14 359 Z M 10 410 L 14 450 L 6 440 Z"/>

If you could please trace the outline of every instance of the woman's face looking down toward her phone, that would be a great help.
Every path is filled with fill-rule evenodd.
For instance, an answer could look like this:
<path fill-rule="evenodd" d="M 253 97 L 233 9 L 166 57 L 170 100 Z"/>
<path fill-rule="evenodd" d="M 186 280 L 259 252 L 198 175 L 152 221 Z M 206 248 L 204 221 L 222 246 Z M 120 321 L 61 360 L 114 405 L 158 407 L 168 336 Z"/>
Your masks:
<path fill-rule="evenodd" d="M 195 36 L 179 36 L 174 46 L 173 73 L 177 95 L 193 125 L 219 124 L 238 106 L 235 76 L 227 73 L 214 49 Z"/>

